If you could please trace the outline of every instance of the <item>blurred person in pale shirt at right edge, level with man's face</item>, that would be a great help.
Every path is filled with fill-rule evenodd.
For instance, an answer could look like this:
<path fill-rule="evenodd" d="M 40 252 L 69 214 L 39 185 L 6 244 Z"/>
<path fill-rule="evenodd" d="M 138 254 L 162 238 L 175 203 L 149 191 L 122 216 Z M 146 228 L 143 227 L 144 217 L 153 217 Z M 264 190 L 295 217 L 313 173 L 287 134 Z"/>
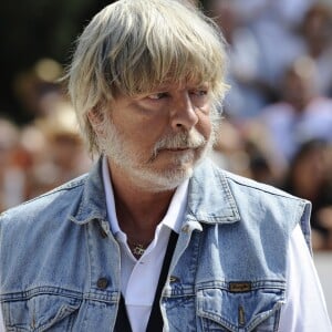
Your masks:
<path fill-rule="evenodd" d="M 332 100 L 317 93 L 317 68 L 311 58 L 299 58 L 280 83 L 281 98 L 253 120 L 266 128 L 272 149 L 289 163 L 303 142 L 332 143 Z"/>

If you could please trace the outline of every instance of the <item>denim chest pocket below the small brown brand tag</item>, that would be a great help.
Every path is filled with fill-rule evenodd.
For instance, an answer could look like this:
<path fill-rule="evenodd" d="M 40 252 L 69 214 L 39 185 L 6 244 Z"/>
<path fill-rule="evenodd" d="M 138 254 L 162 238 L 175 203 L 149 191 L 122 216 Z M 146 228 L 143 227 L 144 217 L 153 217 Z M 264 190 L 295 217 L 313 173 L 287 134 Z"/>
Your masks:
<path fill-rule="evenodd" d="M 197 293 L 197 315 L 203 331 L 274 332 L 283 300 L 283 289 L 203 289 Z"/>

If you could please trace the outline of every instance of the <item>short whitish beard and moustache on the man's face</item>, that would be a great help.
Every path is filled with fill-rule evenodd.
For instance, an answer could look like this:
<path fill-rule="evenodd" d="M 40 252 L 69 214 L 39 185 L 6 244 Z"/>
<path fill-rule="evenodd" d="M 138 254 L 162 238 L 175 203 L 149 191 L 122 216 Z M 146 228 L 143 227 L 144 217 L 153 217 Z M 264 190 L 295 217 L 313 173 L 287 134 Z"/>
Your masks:
<path fill-rule="evenodd" d="M 151 191 L 172 190 L 185 179 L 193 176 L 194 167 L 211 149 L 212 138 L 208 141 L 195 128 L 188 133 L 175 133 L 159 139 L 151 156 L 143 159 L 138 151 L 131 146 L 123 133 L 112 123 L 111 118 L 104 123 L 104 135 L 98 138 L 100 147 L 110 160 L 123 169 L 131 180 L 142 189 Z M 175 154 L 172 156 L 173 167 L 159 170 L 154 168 L 154 160 L 163 148 L 193 147 L 199 148 L 198 158 L 194 151 Z M 196 159 L 195 159 L 196 158 Z"/>

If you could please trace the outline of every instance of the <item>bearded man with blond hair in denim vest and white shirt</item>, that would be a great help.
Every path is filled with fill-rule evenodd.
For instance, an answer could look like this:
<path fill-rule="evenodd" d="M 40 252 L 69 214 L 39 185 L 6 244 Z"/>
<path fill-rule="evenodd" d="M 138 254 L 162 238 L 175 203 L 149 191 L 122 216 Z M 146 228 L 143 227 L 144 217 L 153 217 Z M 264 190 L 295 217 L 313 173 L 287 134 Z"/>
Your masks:
<path fill-rule="evenodd" d="M 100 160 L 1 216 L 8 331 L 330 331 L 310 204 L 205 157 L 225 63 L 189 3 L 94 17 L 69 89 Z"/>

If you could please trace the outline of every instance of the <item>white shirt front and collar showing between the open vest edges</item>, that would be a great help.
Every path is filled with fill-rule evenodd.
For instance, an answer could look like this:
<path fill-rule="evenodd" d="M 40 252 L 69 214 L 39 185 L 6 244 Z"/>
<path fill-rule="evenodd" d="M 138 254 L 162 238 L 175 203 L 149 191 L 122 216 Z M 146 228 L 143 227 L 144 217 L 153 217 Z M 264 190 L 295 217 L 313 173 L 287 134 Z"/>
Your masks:
<path fill-rule="evenodd" d="M 103 180 L 111 230 L 121 248 L 122 294 L 133 332 L 145 331 L 159 280 L 170 231 L 179 232 L 186 208 L 188 180 L 174 194 L 166 216 L 155 231 L 155 238 L 136 260 L 120 229 L 106 158 L 103 159 Z"/>

